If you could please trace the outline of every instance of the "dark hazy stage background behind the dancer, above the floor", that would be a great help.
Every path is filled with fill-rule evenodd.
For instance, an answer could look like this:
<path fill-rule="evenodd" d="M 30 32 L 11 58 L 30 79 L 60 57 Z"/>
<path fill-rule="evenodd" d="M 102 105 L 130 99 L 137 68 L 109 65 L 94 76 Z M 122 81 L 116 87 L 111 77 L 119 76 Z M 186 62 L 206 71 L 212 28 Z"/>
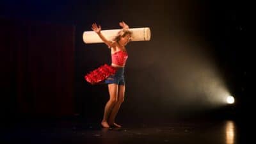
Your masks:
<path fill-rule="evenodd" d="M 125 102 L 118 118 L 248 116 L 253 108 L 249 11 L 244 1 L 3 0 L 2 116 L 100 121 L 108 87 L 92 86 L 83 76 L 110 63 L 110 52 L 104 44 L 84 44 L 82 35 L 93 22 L 117 29 L 122 20 L 131 28 L 149 27 L 151 40 L 127 45 Z M 204 74 L 214 79 L 215 72 L 236 104 L 214 107 L 204 100 L 209 83 L 200 79 Z M 183 88 L 185 83 L 192 84 Z M 196 86 L 204 93 L 193 91 Z"/>

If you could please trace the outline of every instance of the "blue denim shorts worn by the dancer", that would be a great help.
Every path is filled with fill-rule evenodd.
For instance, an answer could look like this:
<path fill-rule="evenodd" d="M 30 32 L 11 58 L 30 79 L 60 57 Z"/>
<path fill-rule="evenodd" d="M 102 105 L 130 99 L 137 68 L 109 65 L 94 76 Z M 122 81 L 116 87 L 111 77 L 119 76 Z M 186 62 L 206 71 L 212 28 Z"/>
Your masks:
<path fill-rule="evenodd" d="M 124 85 L 124 67 L 118 67 L 116 70 L 116 73 L 114 75 L 109 76 L 104 83 L 106 84 L 118 84 L 118 85 Z"/>

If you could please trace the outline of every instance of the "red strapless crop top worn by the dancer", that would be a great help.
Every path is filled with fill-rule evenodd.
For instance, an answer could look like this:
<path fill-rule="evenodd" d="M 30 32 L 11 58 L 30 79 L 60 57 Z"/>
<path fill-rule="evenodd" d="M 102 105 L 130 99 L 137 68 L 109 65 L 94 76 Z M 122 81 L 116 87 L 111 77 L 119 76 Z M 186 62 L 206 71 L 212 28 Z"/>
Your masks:
<path fill-rule="evenodd" d="M 125 51 L 118 51 L 111 54 L 112 63 L 115 65 L 125 66 L 128 54 Z"/>

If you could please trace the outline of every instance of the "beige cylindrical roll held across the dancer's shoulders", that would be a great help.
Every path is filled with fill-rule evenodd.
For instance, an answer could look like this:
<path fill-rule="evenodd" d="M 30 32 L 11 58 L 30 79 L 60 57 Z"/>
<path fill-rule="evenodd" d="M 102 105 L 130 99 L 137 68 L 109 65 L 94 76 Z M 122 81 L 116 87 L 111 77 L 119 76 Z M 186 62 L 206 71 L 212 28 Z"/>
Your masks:
<path fill-rule="evenodd" d="M 131 41 L 150 40 L 150 36 L 151 36 L 150 28 L 130 28 L 129 30 L 132 31 Z M 108 30 L 102 30 L 101 33 L 107 38 L 107 40 L 113 40 L 113 38 L 115 38 L 115 36 L 117 35 L 118 31 L 120 31 L 120 29 L 108 29 Z M 99 35 L 95 33 L 95 31 L 84 31 L 83 41 L 86 44 L 103 42 L 100 39 Z"/>

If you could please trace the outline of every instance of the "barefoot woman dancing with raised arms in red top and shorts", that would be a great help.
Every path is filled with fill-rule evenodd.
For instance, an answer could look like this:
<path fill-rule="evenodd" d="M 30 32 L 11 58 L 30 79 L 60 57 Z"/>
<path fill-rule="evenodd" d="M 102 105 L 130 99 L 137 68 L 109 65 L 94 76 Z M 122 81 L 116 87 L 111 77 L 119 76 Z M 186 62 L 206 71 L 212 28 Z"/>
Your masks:
<path fill-rule="evenodd" d="M 97 74 L 95 72 L 94 74 L 91 72 L 91 74 L 85 76 L 86 81 L 89 83 L 99 83 L 103 81 L 108 84 L 109 100 L 106 103 L 104 116 L 101 122 L 102 127 L 106 128 L 121 127 L 121 125 L 115 123 L 115 118 L 122 102 L 124 102 L 124 67 L 128 58 L 125 45 L 130 42 L 132 32 L 129 31 L 129 26 L 125 24 L 125 22 L 120 22 L 119 25 L 122 29 L 117 33 L 113 41 L 109 41 L 104 37 L 104 35 L 102 35 L 102 33 L 100 33 L 101 27 L 97 26 L 95 23 L 92 24 L 93 31 L 95 31 L 102 41 L 108 45 L 109 49 L 111 49 L 112 63 L 111 66 L 104 65 L 98 68 L 98 72 L 96 72 Z M 92 75 L 99 77 L 99 79 L 93 81 Z"/>

